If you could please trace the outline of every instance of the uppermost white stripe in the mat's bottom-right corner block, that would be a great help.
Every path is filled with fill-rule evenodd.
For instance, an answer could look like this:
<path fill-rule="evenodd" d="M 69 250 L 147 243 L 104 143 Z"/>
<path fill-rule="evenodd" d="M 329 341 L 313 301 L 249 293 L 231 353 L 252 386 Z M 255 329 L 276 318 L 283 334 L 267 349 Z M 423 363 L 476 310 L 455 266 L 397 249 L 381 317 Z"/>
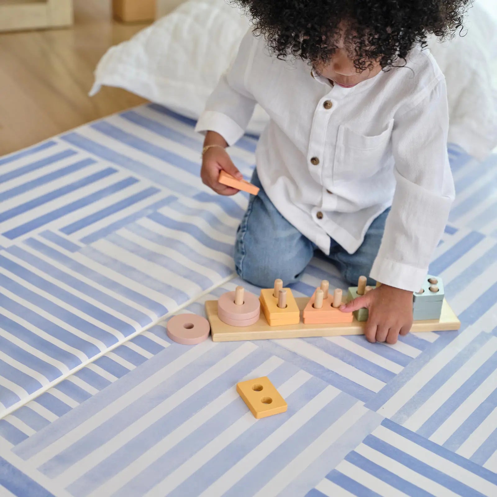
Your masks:
<path fill-rule="evenodd" d="M 483 495 L 488 497 L 495 497 L 497 495 L 497 486 L 493 483 L 488 482 L 471 471 L 468 471 L 466 468 L 435 454 L 431 450 L 417 445 L 408 438 L 405 438 L 384 426 L 379 426 L 373 432 L 373 435 L 376 435 L 378 438 L 381 438 L 394 447 L 400 448 L 403 452 L 415 457 L 419 461 L 428 463 L 432 468 L 451 476 L 468 487 L 481 492 Z"/>

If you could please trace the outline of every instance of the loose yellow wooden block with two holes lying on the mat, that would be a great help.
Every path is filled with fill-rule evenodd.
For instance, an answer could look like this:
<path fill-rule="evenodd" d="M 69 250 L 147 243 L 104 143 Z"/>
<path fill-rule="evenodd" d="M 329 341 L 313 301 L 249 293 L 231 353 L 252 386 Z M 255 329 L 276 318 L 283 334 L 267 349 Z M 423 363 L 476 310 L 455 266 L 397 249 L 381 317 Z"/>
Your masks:
<path fill-rule="evenodd" d="M 288 408 L 267 376 L 238 383 L 237 392 L 257 419 L 284 413 Z"/>

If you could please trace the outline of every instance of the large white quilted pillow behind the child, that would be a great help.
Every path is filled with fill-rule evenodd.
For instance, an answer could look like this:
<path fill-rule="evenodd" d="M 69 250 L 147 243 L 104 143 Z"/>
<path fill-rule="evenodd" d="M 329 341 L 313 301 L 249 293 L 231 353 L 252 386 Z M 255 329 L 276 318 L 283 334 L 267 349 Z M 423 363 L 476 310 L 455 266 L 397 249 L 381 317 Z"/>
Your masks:
<path fill-rule="evenodd" d="M 466 37 L 429 42 L 447 80 L 449 141 L 483 159 L 497 145 L 497 115 L 489 64 L 497 54 L 496 24 L 473 7 Z M 197 119 L 233 60 L 249 22 L 224 0 L 188 0 L 174 12 L 112 47 L 102 57 L 90 92 L 119 86 Z M 256 107 L 248 132 L 258 134 L 267 115 Z"/>

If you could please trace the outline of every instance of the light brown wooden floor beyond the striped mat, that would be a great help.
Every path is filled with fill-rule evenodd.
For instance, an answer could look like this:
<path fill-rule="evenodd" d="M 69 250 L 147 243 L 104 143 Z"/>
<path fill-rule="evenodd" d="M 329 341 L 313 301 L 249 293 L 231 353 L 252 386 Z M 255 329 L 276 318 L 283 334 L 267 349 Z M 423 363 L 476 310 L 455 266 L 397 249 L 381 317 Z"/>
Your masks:
<path fill-rule="evenodd" d="M 69 29 L 0 34 L 0 155 L 145 100 L 117 88 L 90 98 L 105 51 L 145 24 L 112 21 L 110 0 L 75 0 Z"/>

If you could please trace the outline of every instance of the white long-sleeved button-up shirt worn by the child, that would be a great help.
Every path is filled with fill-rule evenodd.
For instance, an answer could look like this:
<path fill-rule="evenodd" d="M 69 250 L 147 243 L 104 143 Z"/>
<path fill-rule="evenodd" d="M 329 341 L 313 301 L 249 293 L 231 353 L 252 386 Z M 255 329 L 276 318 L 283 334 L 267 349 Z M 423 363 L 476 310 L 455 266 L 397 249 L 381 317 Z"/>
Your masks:
<path fill-rule="evenodd" d="M 196 130 L 229 145 L 258 102 L 270 120 L 256 150 L 260 182 L 278 211 L 323 252 L 347 252 L 392 206 L 370 276 L 417 291 L 454 198 L 445 80 L 414 48 L 407 66 L 352 88 L 331 85 L 301 59 L 279 60 L 249 31 Z"/>

